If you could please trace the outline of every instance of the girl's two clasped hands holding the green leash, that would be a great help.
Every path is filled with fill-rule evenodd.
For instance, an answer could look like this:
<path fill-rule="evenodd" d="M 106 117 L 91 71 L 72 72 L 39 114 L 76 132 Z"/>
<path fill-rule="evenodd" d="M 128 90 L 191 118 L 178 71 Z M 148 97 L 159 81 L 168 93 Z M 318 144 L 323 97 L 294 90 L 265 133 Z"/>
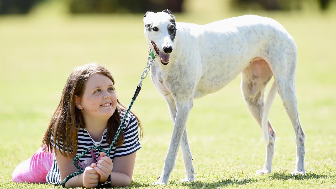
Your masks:
<path fill-rule="evenodd" d="M 98 183 L 105 182 L 113 168 L 113 162 L 110 157 L 106 156 L 106 153 L 100 153 L 100 160 L 96 163 L 92 163 L 87 166 L 83 174 L 83 185 L 85 188 L 93 188 Z"/>

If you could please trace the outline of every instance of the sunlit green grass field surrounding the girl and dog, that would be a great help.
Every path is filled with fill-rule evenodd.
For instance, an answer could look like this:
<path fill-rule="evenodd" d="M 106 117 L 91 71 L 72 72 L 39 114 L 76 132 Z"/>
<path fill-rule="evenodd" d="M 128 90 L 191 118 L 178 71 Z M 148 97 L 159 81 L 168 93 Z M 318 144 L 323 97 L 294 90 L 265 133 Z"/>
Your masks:
<path fill-rule="evenodd" d="M 249 12 L 252 13 L 252 12 Z M 178 22 L 205 24 L 246 12 L 176 14 Z M 277 132 L 273 172 L 255 176 L 264 163 L 261 130 L 248 112 L 240 76 L 220 91 L 194 101 L 187 122 L 196 180 L 181 184 L 179 151 L 167 186 L 151 186 L 163 167 L 172 123 L 149 78 L 133 106 L 144 130 L 128 188 L 336 188 L 336 16 L 306 13 L 258 15 L 279 21 L 298 48 L 296 91 L 306 133 L 304 176 L 295 166 L 294 131 L 279 96 L 270 120 Z M 143 15 L 0 17 L 0 188 L 61 188 L 14 184 L 16 165 L 39 148 L 68 74 L 89 62 L 106 65 L 118 98 L 128 105 L 148 57 Z"/>

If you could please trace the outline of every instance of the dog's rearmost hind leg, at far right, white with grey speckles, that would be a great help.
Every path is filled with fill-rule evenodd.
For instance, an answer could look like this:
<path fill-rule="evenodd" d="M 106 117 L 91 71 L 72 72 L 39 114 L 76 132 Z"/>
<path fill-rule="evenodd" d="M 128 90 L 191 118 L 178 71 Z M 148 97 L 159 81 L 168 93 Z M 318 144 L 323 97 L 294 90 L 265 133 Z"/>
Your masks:
<path fill-rule="evenodd" d="M 278 92 L 287 111 L 288 117 L 292 123 L 295 132 L 296 143 L 296 165 L 292 175 L 305 174 L 304 155 L 305 155 L 305 134 L 299 120 L 299 112 L 297 108 L 297 99 L 295 93 L 295 70 L 296 70 L 296 48 L 287 48 L 287 52 L 283 52 L 279 63 L 270 64 L 277 83 Z M 279 58 L 278 58 L 279 59 Z M 271 61 L 276 62 L 276 58 Z"/>

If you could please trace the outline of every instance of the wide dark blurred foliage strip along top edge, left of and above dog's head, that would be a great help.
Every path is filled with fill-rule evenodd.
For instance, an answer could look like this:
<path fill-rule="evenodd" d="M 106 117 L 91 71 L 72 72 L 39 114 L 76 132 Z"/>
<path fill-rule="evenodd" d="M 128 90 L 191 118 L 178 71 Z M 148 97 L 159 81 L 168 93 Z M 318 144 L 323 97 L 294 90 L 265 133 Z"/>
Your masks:
<path fill-rule="evenodd" d="M 1 1 L 1 0 L 0 0 Z M 69 0 L 71 13 L 181 12 L 183 0 Z"/>

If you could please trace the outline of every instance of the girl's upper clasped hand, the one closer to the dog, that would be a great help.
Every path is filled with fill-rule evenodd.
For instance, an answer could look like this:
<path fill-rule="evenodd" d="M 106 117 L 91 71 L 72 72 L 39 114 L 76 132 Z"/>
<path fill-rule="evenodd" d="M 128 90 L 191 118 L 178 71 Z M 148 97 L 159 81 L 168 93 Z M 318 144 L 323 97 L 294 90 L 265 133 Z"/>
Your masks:
<path fill-rule="evenodd" d="M 100 175 L 99 183 L 105 182 L 109 178 L 113 168 L 113 162 L 110 157 L 106 156 L 106 153 L 101 152 L 100 156 L 97 166 L 94 167 L 94 170 Z"/>

